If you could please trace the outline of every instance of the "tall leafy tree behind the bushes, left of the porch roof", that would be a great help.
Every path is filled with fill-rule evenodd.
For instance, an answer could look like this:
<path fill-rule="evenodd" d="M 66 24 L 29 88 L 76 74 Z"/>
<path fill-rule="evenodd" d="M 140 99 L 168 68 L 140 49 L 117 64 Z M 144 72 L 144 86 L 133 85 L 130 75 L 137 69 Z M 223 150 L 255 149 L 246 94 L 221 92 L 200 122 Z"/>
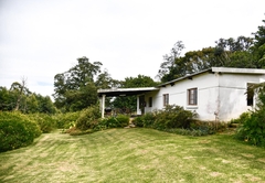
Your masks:
<path fill-rule="evenodd" d="M 54 76 L 55 106 L 65 111 L 77 111 L 97 103 L 97 87 L 106 84 L 104 78 L 107 72 L 98 77 L 102 80 L 95 84 L 95 77 L 102 72 L 100 62 L 91 63 L 85 56 L 77 58 L 77 65 L 67 72 Z"/>

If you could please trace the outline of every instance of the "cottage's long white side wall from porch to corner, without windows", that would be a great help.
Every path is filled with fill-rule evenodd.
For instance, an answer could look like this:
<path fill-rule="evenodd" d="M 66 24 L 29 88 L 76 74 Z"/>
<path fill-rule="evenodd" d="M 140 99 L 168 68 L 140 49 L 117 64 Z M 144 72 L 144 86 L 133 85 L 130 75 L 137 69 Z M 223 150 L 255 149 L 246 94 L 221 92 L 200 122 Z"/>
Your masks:
<path fill-rule="evenodd" d="M 192 79 L 183 79 L 173 86 L 167 85 L 159 92 L 146 94 L 146 100 L 152 96 L 152 108 L 147 107 L 146 111 L 163 108 L 163 94 L 169 94 L 169 105 L 178 105 L 188 110 L 194 110 L 199 114 L 201 120 L 214 120 L 216 111 L 216 96 L 219 76 L 215 74 L 204 73 L 193 76 Z M 188 105 L 188 89 L 198 88 L 198 105 Z"/>

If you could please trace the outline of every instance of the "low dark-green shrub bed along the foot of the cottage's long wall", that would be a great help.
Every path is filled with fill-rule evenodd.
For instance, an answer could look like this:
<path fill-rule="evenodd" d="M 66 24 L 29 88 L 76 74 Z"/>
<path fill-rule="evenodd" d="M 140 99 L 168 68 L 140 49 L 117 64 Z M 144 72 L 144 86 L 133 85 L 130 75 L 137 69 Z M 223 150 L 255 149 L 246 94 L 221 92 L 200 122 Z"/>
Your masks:
<path fill-rule="evenodd" d="M 137 127 L 155 128 L 167 132 L 188 136 L 212 134 L 225 127 L 222 122 L 198 121 L 195 117 L 195 112 L 184 110 L 180 106 L 167 106 L 163 110 L 157 110 L 136 117 L 132 122 Z"/>

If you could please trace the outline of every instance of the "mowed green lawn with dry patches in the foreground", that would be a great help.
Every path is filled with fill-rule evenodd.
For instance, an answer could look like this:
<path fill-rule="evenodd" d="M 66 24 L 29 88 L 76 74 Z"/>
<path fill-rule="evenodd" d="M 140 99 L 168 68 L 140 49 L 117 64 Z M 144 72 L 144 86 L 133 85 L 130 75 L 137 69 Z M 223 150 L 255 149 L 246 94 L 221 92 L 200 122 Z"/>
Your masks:
<path fill-rule="evenodd" d="M 184 137 L 152 129 L 42 134 L 0 153 L 0 182 L 265 182 L 265 149 L 230 134 Z"/>

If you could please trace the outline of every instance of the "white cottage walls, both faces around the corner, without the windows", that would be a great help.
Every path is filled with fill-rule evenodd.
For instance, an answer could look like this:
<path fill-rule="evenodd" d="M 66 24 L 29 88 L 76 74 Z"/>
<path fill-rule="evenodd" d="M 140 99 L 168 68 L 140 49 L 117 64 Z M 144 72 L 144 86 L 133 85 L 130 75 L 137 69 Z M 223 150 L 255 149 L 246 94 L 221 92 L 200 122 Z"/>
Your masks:
<path fill-rule="evenodd" d="M 237 118 L 252 107 L 246 104 L 247 83 L 258 83 L 263 75 L 240 75 L 204 73 L 192 79 L 178 80 L 173 86 L 167 85 L 159 92 L 147 93 L 146 112 L 163 108 L 163 94 L 169 94 L 169 105 L 178 105 L 199 114 L 200 120 L 229 121 Z M 198 88 L 198 105 L 188 105 L 188 89 Z M 152 107 L 148 99 L 152 97 Z"/>

